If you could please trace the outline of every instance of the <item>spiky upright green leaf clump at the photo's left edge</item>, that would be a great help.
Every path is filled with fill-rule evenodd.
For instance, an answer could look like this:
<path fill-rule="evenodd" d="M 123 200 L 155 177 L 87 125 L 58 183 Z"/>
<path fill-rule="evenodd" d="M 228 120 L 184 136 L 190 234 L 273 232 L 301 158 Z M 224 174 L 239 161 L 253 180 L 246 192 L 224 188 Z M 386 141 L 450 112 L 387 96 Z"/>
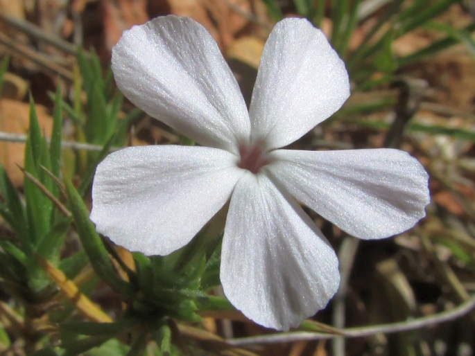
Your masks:
<path fill-rule="evenodd" d="M 0 167 L 0 214 L 8 222 L 15 239 L 0 240 L 3 263 L 0 275 L 12 286 L 10 292 L 21 299 L 41 302 L 49 298 L 51 281 L 37 263 L 37 256 L 57 263 L 71 219 L 58 213 L 51 197 L 59 190 L 46 171 L 59 173 L 61 145 L 61 96 L 55 94 L 51 145 L 40 132 L 35 105 L 30 105 L 30 130 L 25 149 L 26 176 L 24 202 Z M 54 162 L 54 163 L 53 163 Z"/>

